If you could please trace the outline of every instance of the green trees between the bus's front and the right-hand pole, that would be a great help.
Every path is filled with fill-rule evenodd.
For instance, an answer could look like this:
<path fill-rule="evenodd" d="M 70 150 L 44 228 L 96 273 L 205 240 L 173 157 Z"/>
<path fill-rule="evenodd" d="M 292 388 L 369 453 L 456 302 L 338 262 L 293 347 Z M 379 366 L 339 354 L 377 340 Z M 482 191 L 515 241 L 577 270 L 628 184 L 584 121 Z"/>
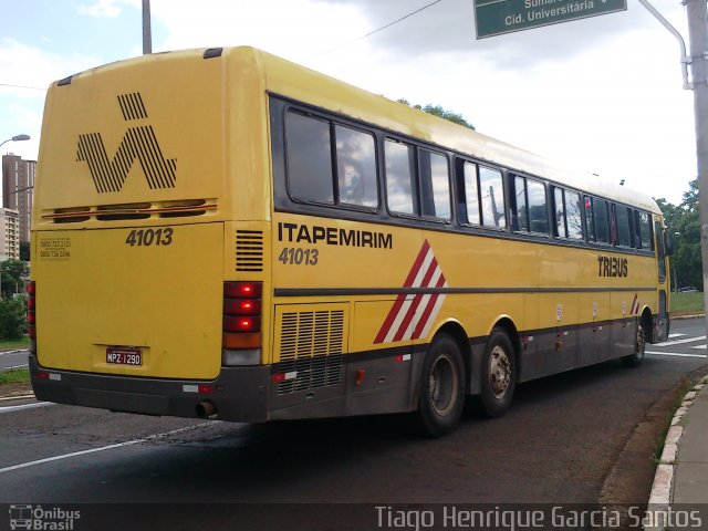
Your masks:
<path fill-rule="evenodd" d="M 660 198 L 656 201 L 664 212 L 674 240 L 671 282 L 674 288 L 695 287 L 702 291 L 704 275 L 700 256 L 700 221 L 698 219 L 698 179 L 689 183 L 684 200 L 677 207 Z"/>

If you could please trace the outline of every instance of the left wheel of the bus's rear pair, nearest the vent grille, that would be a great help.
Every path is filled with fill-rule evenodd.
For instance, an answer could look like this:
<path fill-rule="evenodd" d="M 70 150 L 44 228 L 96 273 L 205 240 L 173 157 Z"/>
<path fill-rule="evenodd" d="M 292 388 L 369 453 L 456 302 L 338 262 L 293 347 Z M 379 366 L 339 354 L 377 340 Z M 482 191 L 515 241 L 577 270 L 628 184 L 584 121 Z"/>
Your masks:
<path fill-rule="evenodd" d="M 433 340 L 420 373 L 416 428 L 440 437 L 449 433 L 465 406 L 465 363 L 457 342 L 447 334 Z"/>

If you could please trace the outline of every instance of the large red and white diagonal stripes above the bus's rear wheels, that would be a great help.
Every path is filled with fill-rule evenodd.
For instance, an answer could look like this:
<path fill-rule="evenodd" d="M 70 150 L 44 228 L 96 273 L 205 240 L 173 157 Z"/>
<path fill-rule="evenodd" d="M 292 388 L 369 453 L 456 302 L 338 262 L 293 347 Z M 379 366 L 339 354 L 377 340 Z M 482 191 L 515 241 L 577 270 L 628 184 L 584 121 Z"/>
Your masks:
<path fill-rule="evenodd" d="M 423 243 L 403 287 L 429 289 L 448 287 L 428 240 Z M 440 312 L 444 301 L 445 294 L 435 290 L 431 293 L 416 293 L 413 296 L 400 293 L 376 334 L 374 343 L 425 337 Z"/>

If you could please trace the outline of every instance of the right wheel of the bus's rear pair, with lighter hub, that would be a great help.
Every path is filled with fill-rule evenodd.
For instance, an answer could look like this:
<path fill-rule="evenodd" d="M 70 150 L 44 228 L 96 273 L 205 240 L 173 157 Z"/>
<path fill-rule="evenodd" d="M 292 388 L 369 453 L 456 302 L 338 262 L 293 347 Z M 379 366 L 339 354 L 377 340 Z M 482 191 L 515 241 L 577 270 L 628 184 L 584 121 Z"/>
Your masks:
<path fill-rule="evenodd" d="M 488 417 L 500 417 L 511 406 L 517 384 L 513 346 L 501 329 L 491 331 L 482 357 L 481 376 L 481 410 Z"/>

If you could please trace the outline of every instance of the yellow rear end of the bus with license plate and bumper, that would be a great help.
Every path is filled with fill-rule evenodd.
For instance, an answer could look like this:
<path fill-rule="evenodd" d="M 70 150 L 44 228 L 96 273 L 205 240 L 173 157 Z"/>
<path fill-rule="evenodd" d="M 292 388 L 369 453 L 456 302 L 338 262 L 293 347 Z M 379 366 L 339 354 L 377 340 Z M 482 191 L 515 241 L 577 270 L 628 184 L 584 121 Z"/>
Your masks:
<path fill-rule="evenodd" d="M 244 117 L 229 114 L 237 87 L 220 55 L 139 58 L 50 88 L 29 290 L 39 399 L 264 418 L 262 278 L 238 278 L 232 258 L 264 207 L 233 210 L 227 177 L 253 162 L 232 160 L 243 139 L 225 131 Z M 240 97 L 259 107 L 257 91 Z"/>

